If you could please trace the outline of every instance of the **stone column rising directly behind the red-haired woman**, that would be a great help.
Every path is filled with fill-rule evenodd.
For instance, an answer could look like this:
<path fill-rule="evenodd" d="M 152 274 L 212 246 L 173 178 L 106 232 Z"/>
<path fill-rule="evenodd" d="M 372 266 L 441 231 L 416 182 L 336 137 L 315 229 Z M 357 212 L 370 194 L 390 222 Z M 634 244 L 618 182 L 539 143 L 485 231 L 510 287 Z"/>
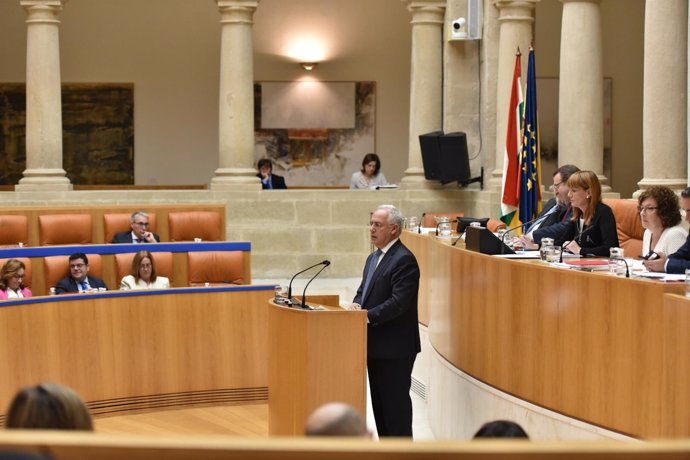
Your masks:
<path fill-rule="evenodd" d="M 604 177 L 604 73 L 600 0 L 561 0 L 561 66 L 558 89 L 558 164 Z"/>

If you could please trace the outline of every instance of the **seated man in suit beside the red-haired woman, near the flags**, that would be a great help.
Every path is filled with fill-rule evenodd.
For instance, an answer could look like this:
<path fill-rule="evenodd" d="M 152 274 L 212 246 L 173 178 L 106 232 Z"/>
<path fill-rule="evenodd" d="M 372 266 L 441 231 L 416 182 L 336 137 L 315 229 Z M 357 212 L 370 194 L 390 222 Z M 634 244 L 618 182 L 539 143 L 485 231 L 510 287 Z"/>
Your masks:
<path fill-rule="evenodd" d="M 555 238 L 565 231 L 568 221 L 573 215 L 568 193 L 568 178 L 579 171 L 575 165 L 563 165 L 553 173 L 553 185 L 551 190 L 554 197 L 551 198 L 534 223 L 527 227 L 525 235 L 521 238 L 523 247 L 536 249 L 544 237 Z"/>

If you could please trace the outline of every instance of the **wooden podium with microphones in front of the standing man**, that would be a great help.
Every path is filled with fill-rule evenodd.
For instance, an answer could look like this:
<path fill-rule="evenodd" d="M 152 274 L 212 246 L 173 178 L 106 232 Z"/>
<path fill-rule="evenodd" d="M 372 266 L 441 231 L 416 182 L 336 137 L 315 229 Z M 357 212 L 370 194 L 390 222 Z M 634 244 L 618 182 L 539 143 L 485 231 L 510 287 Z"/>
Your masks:
<path fill-rule="evenodd" d="M 309 301 L 337 304 L 337 296 Z M 304 434 L 309 414 L 331 401 L 365 414 L 366 311 L 302 310 L 272 300 L 268 308 L 269 435 Z"/>

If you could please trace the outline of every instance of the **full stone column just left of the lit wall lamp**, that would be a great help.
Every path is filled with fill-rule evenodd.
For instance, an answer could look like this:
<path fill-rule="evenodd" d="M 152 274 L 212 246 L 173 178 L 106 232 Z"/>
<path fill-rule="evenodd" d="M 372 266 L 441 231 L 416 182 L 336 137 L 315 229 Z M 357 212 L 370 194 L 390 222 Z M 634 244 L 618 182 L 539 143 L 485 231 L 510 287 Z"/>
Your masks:
<path fill-rule="evenodd" d="M 219 153 L 212 190 L 261 190 L 254 167 L 254 47 L 259 0 L 215 0 L 221 14 Z"/>

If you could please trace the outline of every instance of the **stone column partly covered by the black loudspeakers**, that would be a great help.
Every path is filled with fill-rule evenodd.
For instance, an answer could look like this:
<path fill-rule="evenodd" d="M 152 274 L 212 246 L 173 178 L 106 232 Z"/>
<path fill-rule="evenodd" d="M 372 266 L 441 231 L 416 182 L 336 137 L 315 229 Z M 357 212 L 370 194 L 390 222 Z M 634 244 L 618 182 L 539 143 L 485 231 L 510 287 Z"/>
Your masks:
<path fill-rule="evenodd" d="M 445 1 L 402 0 L 412 13 L 410 138 L 407 169 L 401 186 L 438 188 L 424 179 L 419 135 L 443 129 L 443 22 Z"/>

